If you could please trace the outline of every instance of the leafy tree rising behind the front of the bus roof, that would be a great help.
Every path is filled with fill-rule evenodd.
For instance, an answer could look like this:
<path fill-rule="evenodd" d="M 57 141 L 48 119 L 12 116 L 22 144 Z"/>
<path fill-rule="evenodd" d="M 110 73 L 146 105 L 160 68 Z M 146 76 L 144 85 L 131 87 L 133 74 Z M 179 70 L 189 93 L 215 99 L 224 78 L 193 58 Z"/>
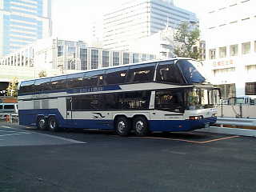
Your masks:
<path fill-rule="evenodd" d="M 199 45 L 200 30 L 191 26 L 189 22 L 182 22 L 174 34 L 174 41 L 178 45 L 174 46 L 174 54 L 182 58 L 201 58 Z"/>

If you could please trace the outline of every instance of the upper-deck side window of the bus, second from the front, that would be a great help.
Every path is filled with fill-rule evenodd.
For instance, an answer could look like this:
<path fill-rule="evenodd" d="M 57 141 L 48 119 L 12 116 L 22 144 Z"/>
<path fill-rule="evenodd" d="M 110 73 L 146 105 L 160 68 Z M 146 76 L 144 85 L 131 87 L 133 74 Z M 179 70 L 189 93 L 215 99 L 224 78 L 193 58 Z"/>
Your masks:
<path fill-rule="evenodd" d="M 143 66 L 130 66 L 126 82 L 153 82 L 155 64 L 149 63 Z"/>

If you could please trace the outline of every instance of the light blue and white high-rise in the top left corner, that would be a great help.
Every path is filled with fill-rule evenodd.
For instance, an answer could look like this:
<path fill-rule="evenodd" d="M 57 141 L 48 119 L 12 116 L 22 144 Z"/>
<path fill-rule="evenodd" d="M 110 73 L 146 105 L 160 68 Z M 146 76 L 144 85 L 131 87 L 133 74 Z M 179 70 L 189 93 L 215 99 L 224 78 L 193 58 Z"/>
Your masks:
<path fill-rule="evenodd" d="M 0 0 L 0 57 L 51 34 L 51 0 Z"/>

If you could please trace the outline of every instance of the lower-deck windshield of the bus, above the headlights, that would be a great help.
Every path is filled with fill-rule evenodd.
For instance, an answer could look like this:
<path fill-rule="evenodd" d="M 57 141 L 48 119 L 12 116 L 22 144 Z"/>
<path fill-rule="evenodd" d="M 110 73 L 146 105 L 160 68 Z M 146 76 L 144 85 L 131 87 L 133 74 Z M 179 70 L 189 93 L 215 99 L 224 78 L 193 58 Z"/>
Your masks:
<path fill-rule="evenodd" d="M 186 110 L 214 108 L 220 101 L 218 90 L 187 89 L 185 91 Z"/>

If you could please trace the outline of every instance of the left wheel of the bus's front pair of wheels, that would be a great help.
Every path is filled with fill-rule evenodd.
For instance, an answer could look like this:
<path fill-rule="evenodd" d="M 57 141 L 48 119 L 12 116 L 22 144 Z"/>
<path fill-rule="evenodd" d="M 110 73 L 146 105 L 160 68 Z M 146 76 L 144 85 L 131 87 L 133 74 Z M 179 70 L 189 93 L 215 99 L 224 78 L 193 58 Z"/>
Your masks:
<path fill-rule="evenodd" d="M 130 120 L 126 117 L 118 117 L 114 123 L 115 132 L 120 136 L 130 134 Z"/>

